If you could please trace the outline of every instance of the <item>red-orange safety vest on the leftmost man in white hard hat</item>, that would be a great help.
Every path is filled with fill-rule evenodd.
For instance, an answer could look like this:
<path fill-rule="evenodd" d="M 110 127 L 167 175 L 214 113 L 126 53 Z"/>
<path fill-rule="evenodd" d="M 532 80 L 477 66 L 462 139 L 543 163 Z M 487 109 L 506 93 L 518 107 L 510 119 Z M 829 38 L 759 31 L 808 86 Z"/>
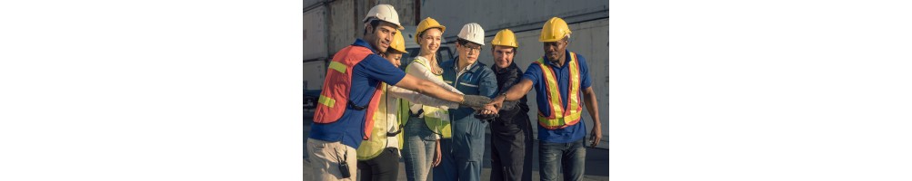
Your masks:
<path fill-rule="evenodd" d="M 377 86 L 367 106 L 355 105 L 348 100 L 348 97 L 351 92 L 352 68 L 371 54 L 373 52 L 367 47 L 348 45 L 339 50 L 336 55 L 333 55 L 333 61 L 329 62 L 329 69 L 326 70 L 323 90 L 320 92 L 320 98 L 317 101 L 319 104 L 316 105 L 314 123 L 335 123 L 345 113 L 348 105 L 351 105 L 355 110 L 367 109 L 362 138 L 364 140 L 370 138 L 370 133 L 374 129 L 374 119 L 372 117 L 374 117 L 374 112 L 376 112 L 380 102 L 380 94 L 383 92 L 382 87 L 380 85 Z"/>

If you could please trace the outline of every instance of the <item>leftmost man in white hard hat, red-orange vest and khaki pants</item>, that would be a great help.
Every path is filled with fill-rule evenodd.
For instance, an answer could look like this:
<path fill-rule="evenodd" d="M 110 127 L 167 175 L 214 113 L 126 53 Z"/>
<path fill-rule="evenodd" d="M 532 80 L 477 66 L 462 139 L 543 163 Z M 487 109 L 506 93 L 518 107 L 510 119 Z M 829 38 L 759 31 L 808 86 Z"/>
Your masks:
<path fill-rule="evenodd" d="M 380 103 L 381 82 L 457 102 L 482 107 L 489 96 L 461 96 L 426 80 L 406 75 L 378 55 L 389 48 L 399 25 L 392 5 L 377 5 L 364 18 L 364 39 L 339 50 L 326 70 L 317 101 L 314 125 L 307 139 L 313 167 L 311 180 L 357 180 L 356 149 L 370 139 L 373 117 Z"/>

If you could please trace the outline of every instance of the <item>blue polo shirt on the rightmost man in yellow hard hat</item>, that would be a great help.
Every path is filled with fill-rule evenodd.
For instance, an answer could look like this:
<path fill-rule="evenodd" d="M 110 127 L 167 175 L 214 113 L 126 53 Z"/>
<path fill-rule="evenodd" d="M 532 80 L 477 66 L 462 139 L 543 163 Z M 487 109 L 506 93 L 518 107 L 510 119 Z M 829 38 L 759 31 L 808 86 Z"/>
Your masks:
<path fill-rule="evenodd" d="M 548 61 L 548 57 L 544 56 L 544 62 L 551 65 L 549 66 L 554 70 L 554 76 L 557 77 L 557 87 L 560 89 L 561 100 L 564 102 L 563 106 L 567 106 L 567 89 L 569 85 L 567 83 L 570 81 L 570 50 L 565 52 L 566 60 L 564 65 L 561 67 L 554 66 L 551 61 Z M 577 94 L 579 100 L 583 100 L 583 89 L 588 88 L 592 85 L 592 82 L 589 81 L 589 65 L 586 64 L 586 58 L 583 55 L 576 55 L 576 61 L 579 61 L 579 78 L 580 78 L 580 92 Z M 551 106 L 548 103 L 547 89 L 545 88 L 544 77 L 542 77 L 542 67 L 535 65 L 534 63 L 529 65 L 525 69 L 525 74 L 523 74 L 524 79 L 529 79 L 533 83 L 535 88 L 535 102 L 538 104 L 538 111 L 544 116 L 551 116 Z M 582 101 L 580 101 L 582 103 Z M 535 125 L 538 125 L 538 117 L 534 118 Z M 550 142 L 550 143 L 570 143 L 581 138 L 586 137 L 586 119 L 583 117 L 579 118 L 579 123 L 574 126 L 567 126 L 561 129 L 546 129 L 541 125 L 538 125 L 538 139 Z"/>

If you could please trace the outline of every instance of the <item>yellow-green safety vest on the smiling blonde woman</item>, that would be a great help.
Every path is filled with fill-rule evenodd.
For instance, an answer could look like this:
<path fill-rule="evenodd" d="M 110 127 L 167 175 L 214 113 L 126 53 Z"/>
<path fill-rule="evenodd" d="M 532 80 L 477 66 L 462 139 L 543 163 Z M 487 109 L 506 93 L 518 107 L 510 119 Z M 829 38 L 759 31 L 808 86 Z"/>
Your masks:
<path fill-rule="evenodd" d="M 415 58 L 415 60 L 412 62 L 418 63 L 421 66 L 424 66 L 425 69 L 428 69 L 428 70 L 431 69 L 430 63 L 424 62 L 424 60 L 421 58 Z M 409 66 L 411 66 L 411 64 L 409 64 Z M 406 67 L 406 69 L 408 69 L 408 67 Z M 438 80 L 443 80 L 442 75 L 436 75 L 433 78 L 437 78 Z M 402 100 L 402 101 L 408 102 L 406 100 Z M 408 105 L 409 105 L 409 107 L 411 107 L 416 104 L 409 103 Z M 444 138 L 452 137 L 452 129 L 450 128 L 450 112 L 447 111 L 447 109 L 441 109 L 436 106 L 423 106 L 422 105 L 421 110 L 424 111 L 421 114 L 422 117 L 424 118 L 424 123 L 426 126 L 428 126 L 428 129 L 430 129 L 431 132 L 438 134 Z"/>

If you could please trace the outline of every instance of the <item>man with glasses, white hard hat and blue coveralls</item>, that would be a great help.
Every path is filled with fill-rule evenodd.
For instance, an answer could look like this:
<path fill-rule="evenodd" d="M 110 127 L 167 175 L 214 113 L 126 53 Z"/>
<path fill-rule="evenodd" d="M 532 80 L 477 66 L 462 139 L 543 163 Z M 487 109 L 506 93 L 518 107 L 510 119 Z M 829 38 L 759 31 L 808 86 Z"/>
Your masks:
<path fill-rule="evenodd" d="M 497 95 L 497 79 L 487 65 L 478 61 L 484 45 L 482 25 L 462 26 L 456 43 L 459 55 L 440 64 L 443 82 L 465 95 Z M 496 114 L 489 110 L 482 115 Z M 488 122 L 475 117 L 471 107 L 450 109 L 452 138 L 440 140 L 443 159 L 434 167 L 434 180 L 481 180 L 484 156 L 484 131 Z"/>

